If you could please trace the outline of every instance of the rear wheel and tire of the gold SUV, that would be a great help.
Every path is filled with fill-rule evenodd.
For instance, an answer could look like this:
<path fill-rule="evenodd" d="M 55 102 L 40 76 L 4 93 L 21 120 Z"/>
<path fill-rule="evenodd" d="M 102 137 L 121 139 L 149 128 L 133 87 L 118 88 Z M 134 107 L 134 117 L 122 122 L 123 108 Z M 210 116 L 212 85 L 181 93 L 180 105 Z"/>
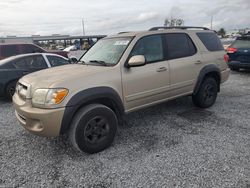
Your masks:
<path fill-rule="evenodd" d="M 198 92 L 192 96 L 194 105 L 200 108 L 212 106 L 217 98 L 218 87 L 218 83 L 214 78 L 205 78 Z"/>

